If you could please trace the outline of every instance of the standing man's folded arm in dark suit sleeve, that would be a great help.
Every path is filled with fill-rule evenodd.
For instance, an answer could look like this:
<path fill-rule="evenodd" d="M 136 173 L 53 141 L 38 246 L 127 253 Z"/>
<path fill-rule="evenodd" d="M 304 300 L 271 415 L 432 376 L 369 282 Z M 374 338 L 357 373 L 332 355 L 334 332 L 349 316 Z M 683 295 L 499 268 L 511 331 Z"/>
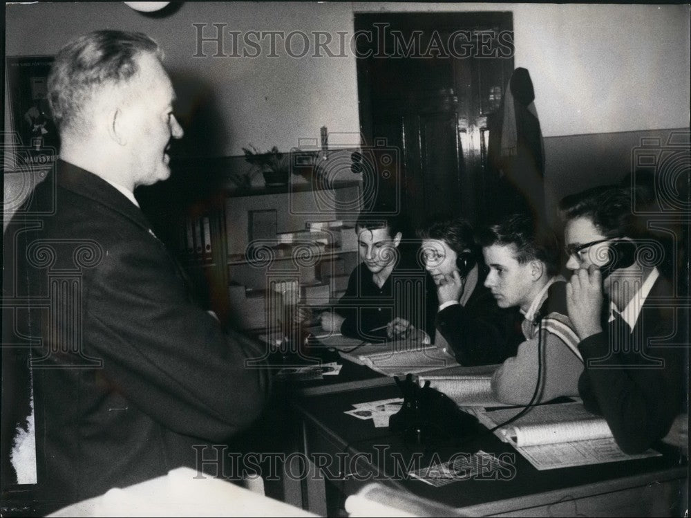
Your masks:
<path fill-rule="evenodd" d="M 261 414 L 269 392 L 263 347 L 224 333 L 191 303 L 159 243 L 108 250 L 90 275 L 84 332 L 94 350 L 86 353 L 103 360 L 104 376 L 133 405 L 208 441 L 224 441 Z"/>

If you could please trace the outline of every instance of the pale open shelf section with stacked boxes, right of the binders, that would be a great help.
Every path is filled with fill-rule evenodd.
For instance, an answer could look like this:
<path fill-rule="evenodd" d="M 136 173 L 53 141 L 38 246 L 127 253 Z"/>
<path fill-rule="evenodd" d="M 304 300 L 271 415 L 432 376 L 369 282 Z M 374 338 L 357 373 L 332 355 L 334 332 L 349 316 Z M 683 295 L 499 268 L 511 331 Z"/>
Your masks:
<path fill-rule="evenodd" d="M 228 295 L 236 326 L 275 326 L 270 299 L 285 296 L 285 286 L 299 289 L 293 302 L 304 306 L 326 306 L 344 293 L 358 261 L 360 198 L 359 182 L 227 198 Z"/>

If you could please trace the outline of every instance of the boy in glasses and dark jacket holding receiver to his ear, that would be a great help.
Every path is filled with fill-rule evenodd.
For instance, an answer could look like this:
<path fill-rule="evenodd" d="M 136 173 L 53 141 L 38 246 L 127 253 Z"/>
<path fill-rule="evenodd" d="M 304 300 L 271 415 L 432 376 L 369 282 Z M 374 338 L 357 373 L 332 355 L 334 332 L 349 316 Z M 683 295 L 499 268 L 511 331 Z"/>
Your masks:
<path fill-rule="evenodd" d="M 670 429 L 678 432 L 675 421 L 686 421 L 688 430 L 688 308 L 674 300 L 657 268 L 656 259 L 665 255 L 636 221 L 635 195 L 596 187 L 560 207 L 566 266 L 574 271 L 567 284 L 569 318 L 585 363 L 578 391 L 627 453 L 647 450 Z"/>

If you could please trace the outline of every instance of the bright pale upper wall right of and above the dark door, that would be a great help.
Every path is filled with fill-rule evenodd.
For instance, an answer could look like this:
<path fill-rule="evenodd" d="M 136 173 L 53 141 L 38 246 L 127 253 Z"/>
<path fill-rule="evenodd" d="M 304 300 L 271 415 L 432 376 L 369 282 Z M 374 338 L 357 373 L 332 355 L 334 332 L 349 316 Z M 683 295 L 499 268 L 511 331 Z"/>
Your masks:
<path fill-rule="evenodd" d="M 513 12 L 545 136 L 688 127 L 690 6 L 357 3 L 356 12 Z"/>

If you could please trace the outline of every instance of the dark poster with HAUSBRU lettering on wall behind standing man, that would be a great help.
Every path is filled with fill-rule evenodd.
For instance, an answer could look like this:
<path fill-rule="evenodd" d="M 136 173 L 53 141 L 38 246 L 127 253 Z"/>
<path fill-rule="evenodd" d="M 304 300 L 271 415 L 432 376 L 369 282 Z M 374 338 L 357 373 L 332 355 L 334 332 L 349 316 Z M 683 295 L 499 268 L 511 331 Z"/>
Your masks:
<path fill-rule="evenodd" d="M 6 58 L 7 93 L 17 166 L 50 166 L 57 159 L 59 136 L 48 107 L 48 73 L 52 56 Z"/>

